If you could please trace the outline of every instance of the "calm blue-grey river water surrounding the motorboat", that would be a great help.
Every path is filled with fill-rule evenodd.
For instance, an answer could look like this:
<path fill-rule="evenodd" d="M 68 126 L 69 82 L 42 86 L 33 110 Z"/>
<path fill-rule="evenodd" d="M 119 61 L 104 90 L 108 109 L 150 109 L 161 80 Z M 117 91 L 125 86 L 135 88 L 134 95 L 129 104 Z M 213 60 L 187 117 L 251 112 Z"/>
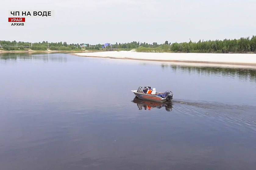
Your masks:
<path fill-rule="evenodd" d="M 0 54 L 0 72 L 1 170 L 256 169 L 255 70 Z"/>

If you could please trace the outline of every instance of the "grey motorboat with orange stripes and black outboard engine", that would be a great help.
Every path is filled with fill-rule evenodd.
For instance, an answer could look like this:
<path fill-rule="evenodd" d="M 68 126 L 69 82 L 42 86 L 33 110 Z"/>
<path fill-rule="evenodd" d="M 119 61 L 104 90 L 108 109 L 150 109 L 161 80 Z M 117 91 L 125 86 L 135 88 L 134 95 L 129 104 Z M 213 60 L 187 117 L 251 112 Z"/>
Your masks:
<path fill-rule="evenodd" d="M 148 89 L 149 86 L 144 86 L 144 88 Z M 167 90 L 166 92 L 156 92 L 155 88 L 152 88 L 151 93 L 144 93 L 143 89 L 142 86 L 140 86 L 138 90 L 131 91 L 140 99 L 152 100 L 156 102 L 171 102 L 173 99 L 173 93 L 170 90 Z"/>

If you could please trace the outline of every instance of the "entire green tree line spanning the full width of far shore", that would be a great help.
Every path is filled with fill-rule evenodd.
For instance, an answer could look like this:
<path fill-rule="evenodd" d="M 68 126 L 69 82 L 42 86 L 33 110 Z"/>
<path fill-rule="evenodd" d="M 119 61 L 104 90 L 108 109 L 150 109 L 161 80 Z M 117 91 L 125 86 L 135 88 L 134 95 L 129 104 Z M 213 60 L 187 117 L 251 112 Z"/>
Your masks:
<path fill-rule="evenodd" d="M 47 41 L 30 43 L 30 42 L 16 42 L 16 41 L 0 41 L 2 48 L 4 50 L 46 50 L 49 45 L 50 50 L 81 50 L 80 45 L 82 43 L 72 43 L 67 44 L 66 42 L 56 42 L 48 43 Z M 103 44 L 86 44 L 87 50 L 101 50 Z M 14 46 L 14 47 L 9 47 Z M 20 47 L 16 47 L 20 46 Z M 118 48 L 122 50 L 136 49 L 137 52 L 183 52 L 183 53 L 247 53 L 253 52 L 256 53 L 256 36 L 250 37 L 241 37 L 240 39 L 225 39 L 225 40 L 199 40 L 198 42 L 183 42 L 183 43 L 165 43 L 158 44 L 156 42 L 142 43 L 133 41 L 130 43 L 115 43 L 112 44 L 112 47 L 109 48 Z"/>

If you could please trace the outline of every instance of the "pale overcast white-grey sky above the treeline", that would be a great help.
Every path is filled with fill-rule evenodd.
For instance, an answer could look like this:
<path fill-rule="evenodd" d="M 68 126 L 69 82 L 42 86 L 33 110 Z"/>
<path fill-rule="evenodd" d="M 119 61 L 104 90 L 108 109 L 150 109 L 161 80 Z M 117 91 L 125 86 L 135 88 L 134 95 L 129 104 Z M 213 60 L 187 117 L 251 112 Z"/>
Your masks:
<path fill-rule="evenodd" d="M 55 10 L 8 26 L 8 10 Z M 193 42 L 256 35 L 255 0 L 8 0 L 0 40 L 69 43 Z"/>

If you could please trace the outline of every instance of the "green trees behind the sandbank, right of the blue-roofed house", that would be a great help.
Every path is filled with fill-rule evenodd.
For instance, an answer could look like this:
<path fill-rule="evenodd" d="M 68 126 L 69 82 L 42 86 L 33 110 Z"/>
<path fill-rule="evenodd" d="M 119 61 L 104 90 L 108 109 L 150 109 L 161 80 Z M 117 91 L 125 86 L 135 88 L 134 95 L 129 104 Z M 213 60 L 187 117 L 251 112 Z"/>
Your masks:
<path fill-rule="evenodd" d="M 199 40 L 198 42 L 148 44 L 132 43 L 115 44 L 114 48 L 133 49 L 137 52 L 183 52 L 183 53 L 247 53 L 256 52 L 256 36 L 241 37 L 236 40 Z"/>

